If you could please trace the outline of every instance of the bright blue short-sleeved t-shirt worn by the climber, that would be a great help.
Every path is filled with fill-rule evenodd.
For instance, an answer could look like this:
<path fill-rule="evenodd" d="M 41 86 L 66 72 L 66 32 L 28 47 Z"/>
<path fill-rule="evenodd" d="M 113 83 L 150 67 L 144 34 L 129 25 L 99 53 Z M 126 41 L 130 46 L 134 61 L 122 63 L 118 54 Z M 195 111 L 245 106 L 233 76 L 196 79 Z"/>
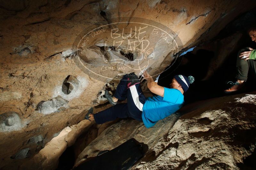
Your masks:
<path fill-rule="evenodd" d="M 179 110 L 184 103 L 184 96 L 178 89 L 164 87 L 164 97 L 147 97 L 143 105 L 142 120 L 147 128 L 156 124 L 158 120 L 170 116 Z"/>

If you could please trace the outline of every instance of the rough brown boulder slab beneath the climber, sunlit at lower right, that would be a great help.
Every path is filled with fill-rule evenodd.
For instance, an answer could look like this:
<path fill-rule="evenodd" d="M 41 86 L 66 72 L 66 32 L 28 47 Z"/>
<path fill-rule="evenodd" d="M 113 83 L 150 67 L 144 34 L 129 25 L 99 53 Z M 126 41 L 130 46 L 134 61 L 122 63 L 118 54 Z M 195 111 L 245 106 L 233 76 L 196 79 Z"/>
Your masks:
<path fill-rule="evenodd" d="M 180 110 L 187 112 L 180 118 L 181 113 L 173 114 L 149 129 L 135 120 L 121 121 L 93 140 L 76 166 L 135 138 L 148 151 L 132 169 L 246 168 L 244 159 L 255 153 L 255 99 L 254 92 L 193 103 Z"/>

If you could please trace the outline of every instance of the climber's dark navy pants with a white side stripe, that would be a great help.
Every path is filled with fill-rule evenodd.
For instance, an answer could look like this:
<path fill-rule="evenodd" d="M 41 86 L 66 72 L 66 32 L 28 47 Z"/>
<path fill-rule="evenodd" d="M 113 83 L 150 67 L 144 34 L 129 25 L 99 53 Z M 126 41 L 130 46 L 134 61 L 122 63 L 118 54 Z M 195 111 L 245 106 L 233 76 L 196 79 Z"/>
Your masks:
<path fill-rule="evenodd" d="M 146 101 L 140 84 L 135 84 L 127 88 L 127 74 L 123 76 L 117 85 L 114 95 L 119 100 L 125 100 L 127 103 L 119 103 L 106 110 L 94 114 L 96 124 L 103 124 L 116 118 L 132 117 L 135 120 L 142 121 L 142 107 Z"/>

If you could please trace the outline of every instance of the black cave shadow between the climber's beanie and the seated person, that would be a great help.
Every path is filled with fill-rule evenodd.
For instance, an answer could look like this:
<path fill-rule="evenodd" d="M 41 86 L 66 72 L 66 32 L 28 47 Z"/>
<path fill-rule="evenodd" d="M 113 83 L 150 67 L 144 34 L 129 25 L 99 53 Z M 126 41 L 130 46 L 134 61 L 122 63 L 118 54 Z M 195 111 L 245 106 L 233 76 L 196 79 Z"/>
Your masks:
<path fill-rule="evenodd" d="M 256 47 L 256 43 L 252 44 L 251 42 L 248 42 L 248 38 L 246 40 L 247 41 L 244 41 L 244 44 L 247 44 L 247 46 Z M 174 71 L 171 69 L 164 71 L 162 74 L 160 74 L 158 84 L 160 86 L 170 88 L 169 84 L 174 75 L 183 74 L 185 76 L 194 76 L 195 81 L 190 84 L 188 91 L 184 93 L 184 105 L 215 97 L 227 96 L 227 94 L 224 93 L 224 90 L 229 88 L 227 82 L 236 81 L 234 78 L 236 72 L 236 60 L 234 59 L 234 56 L 236 57 L 237 51 L 239 51 L 240 48 L 243 48 L 243 46 L 244 45 L 240 45 L 233 52 L 231 52 L 225 62 L 223 62 L 223 64 L 208 80 L 201 79 L 204 78 L 207 73 L 210 61 L 214 57 L 214 52 L 201 49 L 198 50 L 196 54 L 188 52 L 184 55 L 185 60 L 187 60 L 187 64 L 180 65 Z M 205 56 L 207 56 L 206 59 Z M 248 74 L 248 80 L 245 87 L 237 93 L 233 93 L 231 95 L 256 90 L 255 84 L 256 80 L 253 78 L 253 76 Z"/>

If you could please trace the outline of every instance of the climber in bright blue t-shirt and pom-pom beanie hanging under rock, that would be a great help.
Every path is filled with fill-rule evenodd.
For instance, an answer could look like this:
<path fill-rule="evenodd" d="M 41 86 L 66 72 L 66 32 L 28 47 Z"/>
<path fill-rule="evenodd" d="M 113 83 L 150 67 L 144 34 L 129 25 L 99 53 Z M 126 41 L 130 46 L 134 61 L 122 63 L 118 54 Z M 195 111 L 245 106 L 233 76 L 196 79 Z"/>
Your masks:
<path fill-rule="evenodd" d="M 117 117 L 132 117 L 135 120 L 143 121 L 147 128 L 152 127 L 158 120 L 168 117 L 182 107 L 184 103 L 183 93 L 194 81 L 192 76 L 175 75 L 170 83 L 170 88 L 165 88 L 159 86 L 147 71 L 144 71 L 143 75 L 143 79 L 148 81 L 148 89 L 156 94 L 155 96 L 146 98 L 141 90 L 137 75 L 134 73 L 125 74 L 117 85 L 114 96 L 105 90 L 106 98 L 114 106 L 95 114 L 92 113 L 93 108 L 91 108 L 85 115 L 85 119 L 95 120 L 96 124 L 103 124 L 115 120 Z M 127 99 L 127 103 L 117 104 L 118 99 Z"/>

